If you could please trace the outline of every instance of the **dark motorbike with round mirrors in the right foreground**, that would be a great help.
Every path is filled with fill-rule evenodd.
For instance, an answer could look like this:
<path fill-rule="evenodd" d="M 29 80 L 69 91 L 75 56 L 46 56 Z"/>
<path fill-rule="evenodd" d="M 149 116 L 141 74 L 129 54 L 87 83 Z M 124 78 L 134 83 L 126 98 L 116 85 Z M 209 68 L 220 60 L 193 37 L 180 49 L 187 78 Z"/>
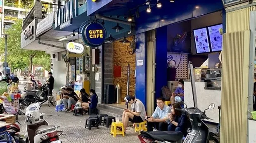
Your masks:
<path fill-rule="evenodd" d="M 180 97 L 175 97 L 178 102 L 181 101 Z M 140 131 L 138 138 L 141 143 L 219 143 L 217 135 L 209 131 L 209 127 L 202 121 L 212 120 L 206 116 L 205 112 L 208 109 L 213 109 L 215 104 L 210 104 L 204 112 L 199 108 L 175 108 L 177 111 L 186 113 L 191 122 L 191 128 L 187 130 L 188 134 L 183 140 L 183 133 L 180 131 Z"/>

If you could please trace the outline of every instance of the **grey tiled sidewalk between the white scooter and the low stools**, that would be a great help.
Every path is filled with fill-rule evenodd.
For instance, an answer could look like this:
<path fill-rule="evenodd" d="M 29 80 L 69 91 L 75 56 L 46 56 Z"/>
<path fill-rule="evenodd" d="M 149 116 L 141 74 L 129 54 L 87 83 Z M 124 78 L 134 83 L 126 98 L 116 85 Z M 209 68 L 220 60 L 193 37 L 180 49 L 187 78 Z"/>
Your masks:
<path fill-rule="evenodd" d="M 117 135 L 113 137 L 110 135 L 110 129 L 107 127 L 99 126 L 99 129 L 92 128 L 89 130 L 85 129 L 85 118 L 89 115 L 78 115 L 74 116 L 73 112 L 55 112 L 54 106 L 43 105 L 40 109 L 41 113 L 45 113 L 45 119 L 50 125 L 59 125 L 59 130 L 63 131 L 60 139 L 62 143 L 140 143 L 135 129 L 128 127 L 126 136 Z M 26 133 L 26 125 L 24 124 L 25 118 L 19 115 L 19 120 L 22 124 L 21 134 Z"/>

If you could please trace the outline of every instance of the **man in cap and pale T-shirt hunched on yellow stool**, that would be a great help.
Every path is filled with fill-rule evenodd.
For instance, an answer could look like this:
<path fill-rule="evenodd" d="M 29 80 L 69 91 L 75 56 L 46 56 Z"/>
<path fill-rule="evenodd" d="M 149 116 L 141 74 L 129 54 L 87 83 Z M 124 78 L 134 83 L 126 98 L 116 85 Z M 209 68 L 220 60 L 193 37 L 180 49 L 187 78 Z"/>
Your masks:
<path fill-rule="evenodd" d="M 142 101 L 136 99 L 134 96 L 127 95 L 124 100 L 126 101 L 126 105 L 128 103 L 131 104 L 131 109 L 123 109 L 122 122 L 124 127 L 124 132 L 126 132 L 126 128 L 128 125 L 128 121 L 134 123 L 140 123 L 145 120 L 146 109 Z"/>

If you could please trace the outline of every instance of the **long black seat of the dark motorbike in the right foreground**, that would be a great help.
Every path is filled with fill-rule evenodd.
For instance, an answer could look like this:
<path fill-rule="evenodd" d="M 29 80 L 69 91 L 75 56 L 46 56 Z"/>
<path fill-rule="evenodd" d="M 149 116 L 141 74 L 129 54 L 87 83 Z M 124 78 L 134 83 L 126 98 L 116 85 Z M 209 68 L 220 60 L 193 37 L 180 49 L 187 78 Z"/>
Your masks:
<path fill-rule="evenodd" d="M 183 138 L 181 131 L 141 131 L 140 133 L 147 134 L 158 141 L 176 142 Z"/>

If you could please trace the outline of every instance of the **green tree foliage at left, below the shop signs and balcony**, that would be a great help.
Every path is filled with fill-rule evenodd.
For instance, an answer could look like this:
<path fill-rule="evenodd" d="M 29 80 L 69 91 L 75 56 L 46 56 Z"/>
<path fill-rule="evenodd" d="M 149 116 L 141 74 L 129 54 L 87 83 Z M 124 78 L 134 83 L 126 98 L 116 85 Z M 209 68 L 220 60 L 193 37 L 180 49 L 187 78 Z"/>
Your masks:
<path fill-rule="evenodd" d="M 12 71 L 15 69 L 24 70 L 29 65 L 32 71 L 33 59 L 45 56 L 45 51 L 34 51 L 21 49 L 22 20 L 16 21 L 5 30 L 7 34 L 7 62 Z M 0 53 L 5 53 L 5 38 L 0 40 Z M 5 56 L 2 56 L 2 61 Z M 50 62 L 50 60 L 49 60 Z"/>

